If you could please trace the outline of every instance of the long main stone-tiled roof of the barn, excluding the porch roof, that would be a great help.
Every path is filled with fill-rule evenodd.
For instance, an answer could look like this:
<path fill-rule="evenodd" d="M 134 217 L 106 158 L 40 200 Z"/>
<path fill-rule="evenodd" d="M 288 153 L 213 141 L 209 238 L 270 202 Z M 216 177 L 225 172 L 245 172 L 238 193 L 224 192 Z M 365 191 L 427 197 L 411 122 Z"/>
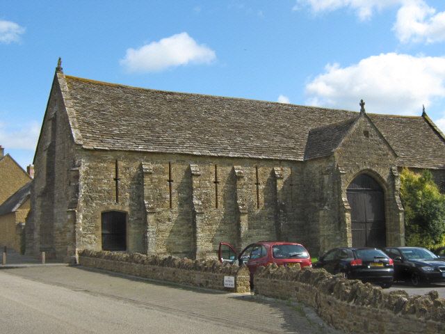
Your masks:
<path fill-rule="evenodd" d="M 302 161 L 311 129 L 358 116 L 353 111 L 57 75 L 74 141 L 88 149 Z M 400 157 L 401 166 L 445 168 L 444 139 L 424 118 L 369 116 Z M 327 129 L 333 134 L 339 128 Z"/>

